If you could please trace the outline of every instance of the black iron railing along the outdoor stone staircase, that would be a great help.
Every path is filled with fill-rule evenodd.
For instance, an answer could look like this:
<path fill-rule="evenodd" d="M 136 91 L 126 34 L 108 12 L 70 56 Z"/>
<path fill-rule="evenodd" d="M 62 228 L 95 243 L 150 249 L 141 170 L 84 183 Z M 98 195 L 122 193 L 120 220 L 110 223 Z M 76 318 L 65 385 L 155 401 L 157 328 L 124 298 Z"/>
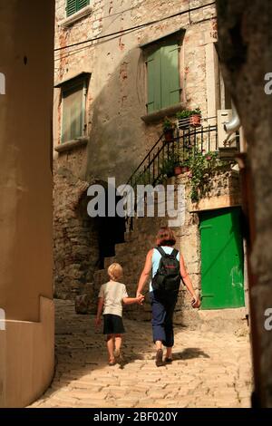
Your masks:
<path fill-rule="evenodd" d="M 191 156 L 196 153 L 205 155 L 209 151 L 217 150 L 217 125 L 177 129 L 167 140 L 163 133 L 131 174 L 128 184 L 132 188 L 140 184 L 156 185 L 168 174 L 168 169 L 174 163 L 186 166 Z"/>

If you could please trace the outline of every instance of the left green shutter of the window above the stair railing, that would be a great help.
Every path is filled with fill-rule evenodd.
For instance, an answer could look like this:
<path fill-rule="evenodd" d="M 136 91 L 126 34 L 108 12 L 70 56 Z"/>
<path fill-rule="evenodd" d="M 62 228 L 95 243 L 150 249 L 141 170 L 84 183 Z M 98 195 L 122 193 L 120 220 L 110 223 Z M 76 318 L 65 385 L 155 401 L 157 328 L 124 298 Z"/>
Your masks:
<path fill-rule="evenodd" d="M 148 102 L 147 111 L 160 110 L 160 49 L 152 52 L 147 60 Z"/>

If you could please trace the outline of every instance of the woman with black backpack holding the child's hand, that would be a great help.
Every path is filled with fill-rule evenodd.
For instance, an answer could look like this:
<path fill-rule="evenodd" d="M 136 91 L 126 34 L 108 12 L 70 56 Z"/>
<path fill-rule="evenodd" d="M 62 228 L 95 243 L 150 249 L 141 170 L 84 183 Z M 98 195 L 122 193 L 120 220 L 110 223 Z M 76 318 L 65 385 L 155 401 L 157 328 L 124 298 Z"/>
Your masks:
<path fill-rule="evenodd" d="M 167 227 L 160 228 L 156 243 L 157 247 L 152 248 L 147 254 L 136 296 L 141 295 L 152 271 L 150 283 L 151 323 L 153 341 L 157 350 L 156 365 L 160 367 L 164 365 L 162 345 L 166 347 L 165 363 L 171 363 L 172 361 L 172 346 L 174 344 L 173 314 L 178 299 L 180 277 L 192 296 L 191 305 L 194 308 L 199 307 L 200 300 L 191 284 L 184 259 L 181 253 L 174 248 L 176 238 L 173 231 Z M 175 273 L 175 263 L 178 267 L 177 273 Z"/>

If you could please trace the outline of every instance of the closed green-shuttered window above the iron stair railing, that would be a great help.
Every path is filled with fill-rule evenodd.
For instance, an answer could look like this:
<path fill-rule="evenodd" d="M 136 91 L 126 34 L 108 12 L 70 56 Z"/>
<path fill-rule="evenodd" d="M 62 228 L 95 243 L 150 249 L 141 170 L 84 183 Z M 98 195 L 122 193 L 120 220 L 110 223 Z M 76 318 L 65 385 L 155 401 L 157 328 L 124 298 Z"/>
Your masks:
<path fill-rule="evenodd" d="M 167 39 L 152 44 L 147 55 L 147 112 L 180 102 L 180 43 Z"/>

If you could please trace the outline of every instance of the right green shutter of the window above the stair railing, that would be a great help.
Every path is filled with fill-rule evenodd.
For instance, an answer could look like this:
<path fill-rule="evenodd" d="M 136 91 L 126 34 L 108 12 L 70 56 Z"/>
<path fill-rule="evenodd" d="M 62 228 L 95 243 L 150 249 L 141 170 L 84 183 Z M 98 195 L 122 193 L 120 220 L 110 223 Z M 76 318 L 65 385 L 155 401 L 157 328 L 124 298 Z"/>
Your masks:
<path fill-rule="evenodd" d="M 179 51 L 175 42 L 160 48 L 161 108 L 180 102 Z"/>

